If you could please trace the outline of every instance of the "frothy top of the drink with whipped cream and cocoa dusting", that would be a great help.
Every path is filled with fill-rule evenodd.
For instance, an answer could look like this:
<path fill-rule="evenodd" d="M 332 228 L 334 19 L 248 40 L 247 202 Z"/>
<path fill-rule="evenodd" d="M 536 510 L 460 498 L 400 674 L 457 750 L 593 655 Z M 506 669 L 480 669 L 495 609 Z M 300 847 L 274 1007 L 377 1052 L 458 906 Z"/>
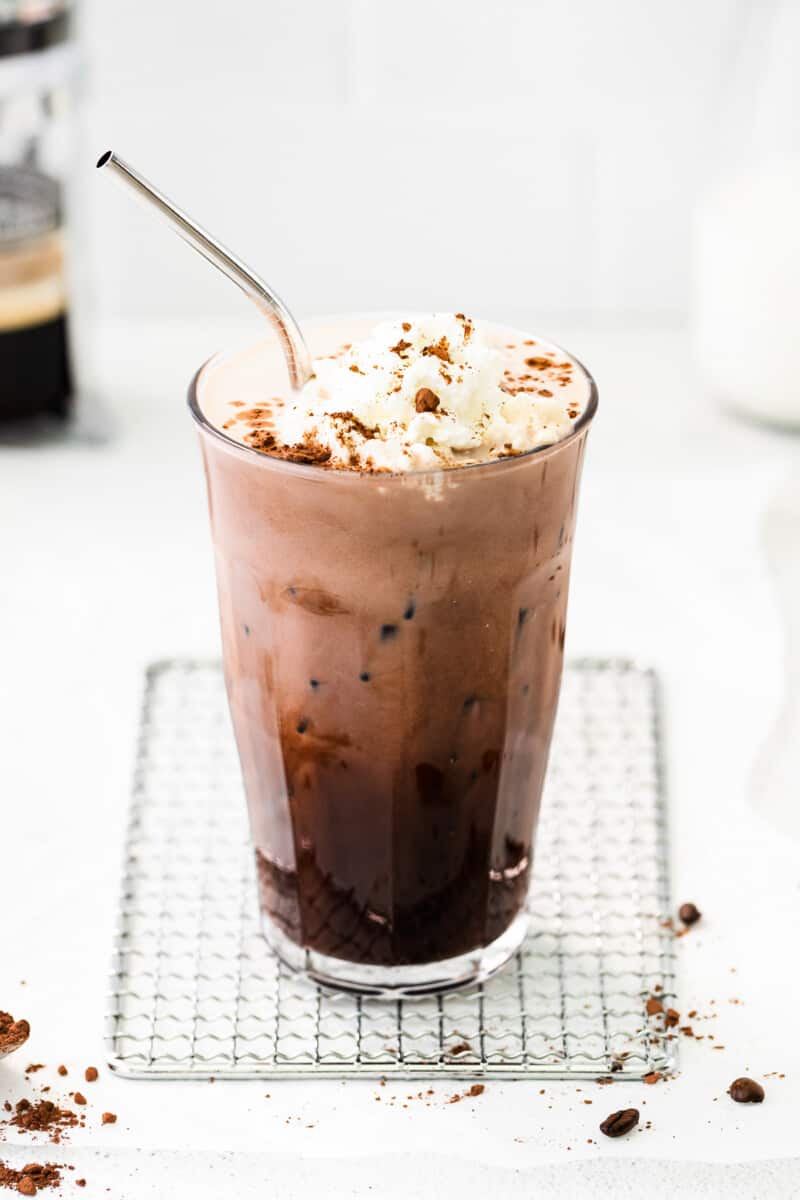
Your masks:
<path fill-rule="evenodd" d="M 327 323 L 307 335 L 314 376 L 300 392 L 278 390 L 277 349 L 206 368 L 198 396 L 210 424 L 295 462 L 405 472 L 552 445 L 590 397 L 585 372 L 558 347 L 463 313 Z"/>

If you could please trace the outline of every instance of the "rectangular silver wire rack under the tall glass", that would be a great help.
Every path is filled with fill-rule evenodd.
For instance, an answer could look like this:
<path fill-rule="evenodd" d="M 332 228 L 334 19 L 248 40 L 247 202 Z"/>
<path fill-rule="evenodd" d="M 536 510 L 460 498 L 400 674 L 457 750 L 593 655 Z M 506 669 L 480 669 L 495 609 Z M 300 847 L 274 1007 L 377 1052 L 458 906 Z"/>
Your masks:
<path fill-rule="evenodd" d="M 121 1075 L 640 1079 L 675 1066 L 657 680 L 565 671 L 536 842 L 530 930 L 467 992 L 324 991 L 258 923 L 253 854 L 218 664 L 148 671 L 107 1016 Z M 652 1004 L 650 1006 L 654 1007 Z"/>

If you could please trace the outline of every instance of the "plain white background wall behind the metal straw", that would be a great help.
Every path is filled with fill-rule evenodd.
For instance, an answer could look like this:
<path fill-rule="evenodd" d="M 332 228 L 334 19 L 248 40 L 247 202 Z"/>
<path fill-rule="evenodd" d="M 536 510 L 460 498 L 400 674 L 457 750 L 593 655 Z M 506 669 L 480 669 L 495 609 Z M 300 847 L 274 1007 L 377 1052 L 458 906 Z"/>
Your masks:
<path fill-rule="evenodd" d="M 301 313 L 679 320 L 742 2 L 85 0 L 100 306 L 240 306 L 113 146 Z"/>

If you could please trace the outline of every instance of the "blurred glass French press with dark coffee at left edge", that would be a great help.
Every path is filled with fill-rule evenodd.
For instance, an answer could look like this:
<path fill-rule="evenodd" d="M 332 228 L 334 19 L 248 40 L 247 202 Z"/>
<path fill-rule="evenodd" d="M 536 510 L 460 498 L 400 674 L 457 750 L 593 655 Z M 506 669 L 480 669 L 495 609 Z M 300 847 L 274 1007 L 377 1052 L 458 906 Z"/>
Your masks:
<path fill-rule="evenodd" d="M 0 0 L 0 436 L 76 416 L 73 16 L 68 0 Z"/>

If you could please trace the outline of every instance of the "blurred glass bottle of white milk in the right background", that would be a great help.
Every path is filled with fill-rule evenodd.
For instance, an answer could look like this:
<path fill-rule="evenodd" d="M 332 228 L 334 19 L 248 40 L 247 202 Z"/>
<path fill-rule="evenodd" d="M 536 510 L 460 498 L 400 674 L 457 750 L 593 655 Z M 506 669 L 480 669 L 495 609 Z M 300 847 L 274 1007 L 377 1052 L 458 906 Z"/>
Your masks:
<path fill-rule="evenodd" d="M 800 427 L 800 4 L 752 0 L 696 229 L 699 367 L 722 403 Z"/>

